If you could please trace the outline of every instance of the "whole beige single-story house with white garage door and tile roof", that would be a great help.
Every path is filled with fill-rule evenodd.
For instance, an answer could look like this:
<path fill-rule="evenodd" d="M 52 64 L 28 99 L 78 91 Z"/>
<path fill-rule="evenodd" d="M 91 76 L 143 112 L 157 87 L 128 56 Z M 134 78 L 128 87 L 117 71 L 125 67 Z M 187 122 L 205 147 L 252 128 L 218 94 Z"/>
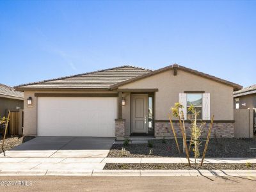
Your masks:
<path fill-rule="evenodd" d="M 182 67 L 159 70 L 123 66 L 38 83 L 22 84 L 24 134 L 106 136 L 136 134 L 172 137 L 168 113 L 175 102 L 195 104 L 200 118 L 214 115 L 212 136 L 234 137 L 233 92 L 242 86 Z M 174 122 L 177 135 L 180 129 Z"/>

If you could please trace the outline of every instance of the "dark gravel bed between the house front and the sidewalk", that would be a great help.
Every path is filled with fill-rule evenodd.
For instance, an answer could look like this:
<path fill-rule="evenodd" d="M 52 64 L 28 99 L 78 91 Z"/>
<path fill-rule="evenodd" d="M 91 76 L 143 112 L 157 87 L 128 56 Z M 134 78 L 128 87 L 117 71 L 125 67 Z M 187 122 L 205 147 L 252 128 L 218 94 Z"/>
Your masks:
<path fill-rule="evenodd" d="M 182 149 L 182 139 L 178 139 L 180 149 Z M 147 144 L 129 144 L 122 151 L 123 145 L 114 144 L 109 151 L 108 157 L 186 157 L 186 154 L 179 154 L 174 139 L 151 140 L 153 144 L 153 154 L 149 154 Z M 200 152 L 204 151 L 205 141 L 200 145 Z M 250 147 L 256 148 L 256 139 L 211 139 L 205 157 L 256 157 L 256 150 L 250 151 Z M 193 152 L 191 152 L 193 157 Z"/>

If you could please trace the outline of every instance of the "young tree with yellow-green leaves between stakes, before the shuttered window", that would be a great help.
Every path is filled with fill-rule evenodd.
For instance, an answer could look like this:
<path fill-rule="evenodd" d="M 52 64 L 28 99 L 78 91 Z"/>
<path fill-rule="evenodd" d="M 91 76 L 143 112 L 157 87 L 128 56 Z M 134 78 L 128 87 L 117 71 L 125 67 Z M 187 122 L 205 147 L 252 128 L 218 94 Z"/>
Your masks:
<path fill-rule="evenodd" d="M 191 112 L 192 114 L 192 119 L 191 119 L 191 142 L 189 144 L 189 148 L 191 144 L 194 145 L 193 152 L 195 156 L 195 165 L 196 165 L 196 159 L 200 157 L 200 150 L 199 146 L 202 143 L 200 141 L 200 136 L 202 134 L 202 129 L 205 125 L 205 122 L 201 122 L 200 124 L 197 123 L 197 116 L 199 115 L 200 111 L 196 111 L 195 106 L 191 105 L 188 108 L 188 112 Z"/>

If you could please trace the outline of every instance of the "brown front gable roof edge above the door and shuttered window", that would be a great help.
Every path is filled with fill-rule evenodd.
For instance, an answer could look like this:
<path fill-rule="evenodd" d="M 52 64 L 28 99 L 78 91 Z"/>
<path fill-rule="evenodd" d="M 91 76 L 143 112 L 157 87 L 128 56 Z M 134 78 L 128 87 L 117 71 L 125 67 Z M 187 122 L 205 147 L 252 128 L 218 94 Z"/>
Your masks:
<path fill-rule="evenodd" d="M 138 81 L 140 79 L 143 79 L 143 78 L 146 78 L 148 76 L 153 76 L 155 74 L 159 74 L 161 72 L 164 72 L 166 70 L 170 70 L 170 69 L 173 69 L 173 68 L 177 68 L 178 70 L 184 70 L 186 72 L 190 72 L 191 74 L 195 74 L 197 76 L 201 76 L 201 77 L 205 77 L 207 79 L 211 79 L 212 81 L 217 81 L 219 83 L 223 83 L 223 84 L 227 84 L 228 86 L 232 86 L 234 88 L 234 90 L 241 90 L 241 88 L 243 88 L 243 86 L 239 85 L 239 84 L 236 84 L 236 83 L 232 83 L 230 81 L 226 81 L 224 79 L 220 79 L 218 77 L 214 77 L 214 76 L 211 76 L 209 74 L 204 74 L 202 72 L 198 72 L 197 70 L 193 70 L 191 68 L 186 68 L 186 67 L 183 67 L 181 65 L 177 65 L 177 64 L 173 64 L 173 65 L 169 65 L 167 67 L 163 67 L 163 68 L 159 68 L 157 70 L 154 70 L 150 73 L 147 73 L 147 74 L 144 74 L 142 76 L 138 76 L 138 77 L 135 77 L 133 79 L 128 79 L 126 81 L 122 81 L 120 83 L 116 83 L 116 84 L 113 84 L 111 86 L 111 89 L 115 89 L 115 88 L 118 88 L 118 86 L 122 86 L 124 84 L 127 84 L 127 83 L 131 83 L 133 81 Z"/>

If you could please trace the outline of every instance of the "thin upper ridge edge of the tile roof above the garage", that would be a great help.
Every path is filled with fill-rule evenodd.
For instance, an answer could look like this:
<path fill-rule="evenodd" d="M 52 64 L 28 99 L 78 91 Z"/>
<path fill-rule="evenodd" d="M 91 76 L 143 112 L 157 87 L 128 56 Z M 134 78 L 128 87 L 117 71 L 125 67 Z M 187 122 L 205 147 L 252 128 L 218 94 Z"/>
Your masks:
<path fill-rule="evenodd" d="M 146 68 L 134 67 L 132 65 L 121 65 L 119 67 L 112 67 L 112 68 L 106 68 L 106 69 L 102 69 L 102 70 L 95 70 L 95 71 L 86 72 L 86 73 L 83 73 L 83 74 L 76 74 L 76 75 L 72 75 L 72 76 L 63 76 L 63 77 L 52 78 L 52 79 L 47 79 L 47 80 L 43 80 L 43 81 L 35 81 L 35 82 L 32 82 L 32 83 L 19 84 L 17 86 L 14 86 L 13 88 L 18 88 L 20 86 L 28 86 L 28 85 L 36 84 L 36 83 L 45 83 L 45 82 L 49 82 L 49 81 L 56 81 L 56 80 L 66 79 L 66 78 L 71 78 L 71 77 L 84 76 L 84 75 L 88 75 L 88 74 L 94 74 L 94 73 L 97 73 L 97 72 L 104 72 L 104 71 L 114 70 L 114 69 L 117 69 L 117 68 L 124 68 L 124 67 L 140 68 L 142 70 L 152 71 L 152 70 L 149 70 L 149 69 L 146 69 Z"/>

